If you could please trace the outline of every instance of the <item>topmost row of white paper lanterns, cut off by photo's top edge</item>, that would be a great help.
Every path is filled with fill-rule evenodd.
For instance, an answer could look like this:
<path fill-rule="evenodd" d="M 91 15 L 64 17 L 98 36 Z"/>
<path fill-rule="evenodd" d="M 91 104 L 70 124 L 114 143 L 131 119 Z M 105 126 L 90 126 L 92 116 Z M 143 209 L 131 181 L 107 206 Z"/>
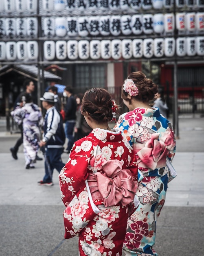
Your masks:
<path fill-rule="evenodd" d="M 38 0 L 1 0 L 0 4 L 0 12 L 13 13 L 17 11 L 19 13 L 23 13 L 26 11 L 34 12 L 37 11 L 37 1 Z M 73 11 L 74 9 L 78 9 L 79 11 L 84 11 L 86 9 L 90 11 L 97 10 L 128 10 L 132 8 L 134 10 L 148 10 L 152 7 L 154 9 L 162 9 L 171 8 L 173 6 L 173 0 L 120 0 L 120 1 L 112 1 L 112 0 L 94 0 L 94 1 L 86 1 L 86 0 L 41 0 L 40 5 L 42 5 L 42 10 L 44 11 L 64 11 L 67 9 L 68 11 Z M 183 7 L 204 7 L 203 0 L 175 0 L 175 5 L 178 8 Z"/>

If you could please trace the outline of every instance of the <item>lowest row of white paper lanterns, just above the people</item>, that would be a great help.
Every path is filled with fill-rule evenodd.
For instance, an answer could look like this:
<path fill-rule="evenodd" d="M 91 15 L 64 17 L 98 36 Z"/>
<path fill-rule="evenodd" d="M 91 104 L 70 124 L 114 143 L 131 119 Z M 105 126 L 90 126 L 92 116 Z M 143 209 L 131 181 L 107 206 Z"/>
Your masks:
<path fill-rule="evenodd" d="M 45 41 L 44 58 L 58 60 L 97 60 L 120 58 L 151 58 L 204 55 L 204 36 L 114 40 L 59 40 Z M 36 60 L 39 55 L 37 41 L 0 42 L 0 61 Z"/>

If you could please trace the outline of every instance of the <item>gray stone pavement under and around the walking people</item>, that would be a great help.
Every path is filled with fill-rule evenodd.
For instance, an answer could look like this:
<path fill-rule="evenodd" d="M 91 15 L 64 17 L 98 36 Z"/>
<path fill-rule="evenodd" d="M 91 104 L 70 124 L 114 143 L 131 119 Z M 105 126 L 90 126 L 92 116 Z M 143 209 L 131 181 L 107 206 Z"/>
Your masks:
<path fill-rule="evenodd" d="M 54 186 L 37 186 L 44 161 L 24 168 L 9 148 L 19 134 L 5 131 L 0 118 L 0 256 L 78 256 L 77 238 L 64 239 L 58 173 Z M 204 238 L 204 117 L 180 116 L 173 166 L 178 176 L 169 183 L 165 206 L 157 222 L 158 256 L 202 256 Z M 42 153 L 39 153 L 42 156 Z M 68 155 L 62 159 L 67 161 Z"/>

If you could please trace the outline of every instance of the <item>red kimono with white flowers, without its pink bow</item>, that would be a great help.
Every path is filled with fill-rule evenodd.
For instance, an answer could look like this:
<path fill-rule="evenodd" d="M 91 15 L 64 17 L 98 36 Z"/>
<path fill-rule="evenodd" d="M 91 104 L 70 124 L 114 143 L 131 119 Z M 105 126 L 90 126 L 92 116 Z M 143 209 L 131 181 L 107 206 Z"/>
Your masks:
<path fill-rule="evenodd" d="M 83 219 L 83 214 L 88 206 L 88 195 L 83 193 L 83 196 L 76 199 L 77 191 L 84 185 L 86 179 L 89 180 L 90 176 L 93 177 L 99 173 L 103 177 L 100 175 L 95 175 L 95 177 L 98 178 L 98 183 L 103 190 L 103 182 L 100 183 L 100 178 L 102 180 L 106 178 L 103 166 L 112 159 L 119 160 L 122 169 L 128 169 L 131 172 L 135 188 L 135 191 L 132 192 L 135 193 L 137 187 L 136 158 L 131 146 L 120 131 L 95 128 L 88 136 L 76 141 L 73 145 L 68 162 L 59 174 L 59 182 L 61 199 L 65 206 L 72 201 L 71 205 L 75 210 L 75 217 L 78 217 L 77 222 L 81 218 Z M 129 172 L 128 170 L 122 171 Z M 105 207 L 103 196 L 97 191 L 97 188 L 90 186 L 90 191 L 94 204 L 100 211 L 79 233 L 80 256 L 121 256 L 129 204 L 125 205 L 125 202 L 122 204 L 120 201 L 116 205 Z M 84 192 L 86 192 L 86 188 Z M 119 195 L 117 194 L 116 201 L 118 198 Z M 81 200 L 80 204 L 79 199 Z M 66 218 L 69 217 L 66 215 Z"/>

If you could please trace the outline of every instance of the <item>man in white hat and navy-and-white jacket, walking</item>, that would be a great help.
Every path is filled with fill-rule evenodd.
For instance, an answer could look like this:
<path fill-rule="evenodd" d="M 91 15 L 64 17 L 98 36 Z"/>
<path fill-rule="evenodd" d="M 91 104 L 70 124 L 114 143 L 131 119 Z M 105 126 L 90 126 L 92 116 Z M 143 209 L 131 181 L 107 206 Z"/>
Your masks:
<path fill-rule="evenodd" d="M 41 186 L 52 186 L 54 168 L 60 173 L 65 165 L 61 161 L 65 133 L 62 117 L 55 108 L 54 94 L 52 92 L 45 92 L 40 100 L 42 101 L 43 108 L 46 109 L 43 139 L 39 143 L 41 148 L 45 148 L 45 176 L 38 184 Z"/>

